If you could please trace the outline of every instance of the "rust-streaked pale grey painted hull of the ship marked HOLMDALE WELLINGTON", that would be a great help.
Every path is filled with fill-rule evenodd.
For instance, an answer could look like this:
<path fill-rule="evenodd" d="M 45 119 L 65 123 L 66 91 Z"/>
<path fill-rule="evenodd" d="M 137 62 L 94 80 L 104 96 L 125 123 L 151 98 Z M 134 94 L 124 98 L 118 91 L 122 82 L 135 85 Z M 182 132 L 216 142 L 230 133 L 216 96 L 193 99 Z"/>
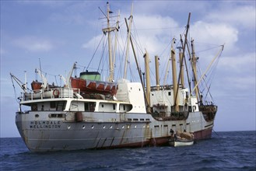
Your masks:
<path fill-rule="evenodd" d="M 49 114 L 55 114 L 54 118 Z M 68 120 L 69 115 L 74 112 L 16 113 L 16 125 L 27 148 L 47 152 L 164 145 L 170 138 L 170 128 L 196 132 L 210 124 L 202 119 L 201 112 L 176 121 L 158 121 L 143 113 L 82 113 L 84 120 L 75 122 Z"/>

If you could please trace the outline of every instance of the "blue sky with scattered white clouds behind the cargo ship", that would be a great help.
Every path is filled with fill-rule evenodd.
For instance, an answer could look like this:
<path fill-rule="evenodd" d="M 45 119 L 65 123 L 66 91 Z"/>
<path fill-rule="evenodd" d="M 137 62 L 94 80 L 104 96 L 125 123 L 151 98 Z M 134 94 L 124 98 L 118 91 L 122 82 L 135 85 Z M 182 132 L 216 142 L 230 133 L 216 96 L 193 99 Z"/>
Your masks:
<path fill-rule="evenodd" d="M 120 9 L 124 26 L 132 2 L 109 2 L 113 12 Z M 26 71 L 30 84 L 36 78 L 34 69 L 39 68 L 39 58 L 50 82 L 55 81 L 55 75 L 66 75 L 75 61 L 87 66 L 105 24 L 99 19 L 103 15 L 98 7 L 105 11 L 106 1 L 1 1 L 1 137 L 19 137 L 15 125 L 19 105 L 9 72 L 23 81 Z M 162 57 L 169 51 L 165 49 L 173 37 L 179 39 L 184 32 L 188 12 L 189 36 L 195 39 L 202 64 L 207 65 L 217 52 L 205 49 L 225 44 L 211 86 L 219 106 L 215 131 L 256 130 L 255 9 L 255 1 L 134 1 L 134 35 L 142 51 L 149 51 L 151 68 L 153 56 L 158 54 L 163 70 Z M 125 31 L 119 37 L 119 44 L 124 44 Z M 138 52 L 142 65 L 142 52 Z M 120 50 L 117 58 L 122 55 Z M 96 54 L 90 68 L 98 68 L 99 57 Z M 130 76 L 136 74 L 131 72 Z M 16 92 L 20 92 L 17 85 Z"/>

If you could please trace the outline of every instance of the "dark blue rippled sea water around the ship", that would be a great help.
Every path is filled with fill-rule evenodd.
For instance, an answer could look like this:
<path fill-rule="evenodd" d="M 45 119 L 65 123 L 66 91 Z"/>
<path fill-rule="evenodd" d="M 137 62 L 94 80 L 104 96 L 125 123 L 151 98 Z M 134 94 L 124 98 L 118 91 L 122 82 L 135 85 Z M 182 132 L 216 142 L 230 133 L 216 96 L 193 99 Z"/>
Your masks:
<path fill-rule="evenodd" d="M 0 170 L 256 170 L 256 131 L 213 132 L 186 147 L 30 152 L 1 138 Z"/>

